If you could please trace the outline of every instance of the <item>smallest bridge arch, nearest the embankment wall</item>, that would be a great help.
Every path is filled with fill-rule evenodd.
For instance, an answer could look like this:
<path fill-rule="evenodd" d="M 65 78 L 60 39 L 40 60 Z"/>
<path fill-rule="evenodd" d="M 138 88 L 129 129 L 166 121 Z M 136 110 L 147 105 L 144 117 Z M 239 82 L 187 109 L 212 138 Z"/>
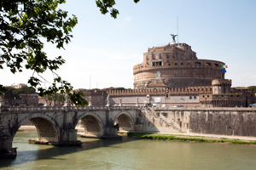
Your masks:
<path fill-rule="evenodd" d="M 127 111 L 121 111 L 114 117 L 114 124 L 119 124 L 119 131 L 134 131 L 134 120 Z"/>

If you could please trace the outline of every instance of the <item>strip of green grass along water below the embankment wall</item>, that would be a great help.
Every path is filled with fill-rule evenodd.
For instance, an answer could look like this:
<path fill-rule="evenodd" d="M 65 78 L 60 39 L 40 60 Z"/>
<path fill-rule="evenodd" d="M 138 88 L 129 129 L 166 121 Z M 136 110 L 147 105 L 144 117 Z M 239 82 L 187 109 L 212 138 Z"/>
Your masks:
<path fill-rule="evenodd" d="M 204 142 L 204 143 L 225 143 L 225 144 L 256 144 L 256 141 L 247 141 L 240 139 L 210 138 L 204 136 L 188 136 L 179 134 L 160 134 L 160 133 L 127 133 L 129 136 L 137 139 L 156 139 L 156 140 L 175 140 L 185 142 Z"/>

